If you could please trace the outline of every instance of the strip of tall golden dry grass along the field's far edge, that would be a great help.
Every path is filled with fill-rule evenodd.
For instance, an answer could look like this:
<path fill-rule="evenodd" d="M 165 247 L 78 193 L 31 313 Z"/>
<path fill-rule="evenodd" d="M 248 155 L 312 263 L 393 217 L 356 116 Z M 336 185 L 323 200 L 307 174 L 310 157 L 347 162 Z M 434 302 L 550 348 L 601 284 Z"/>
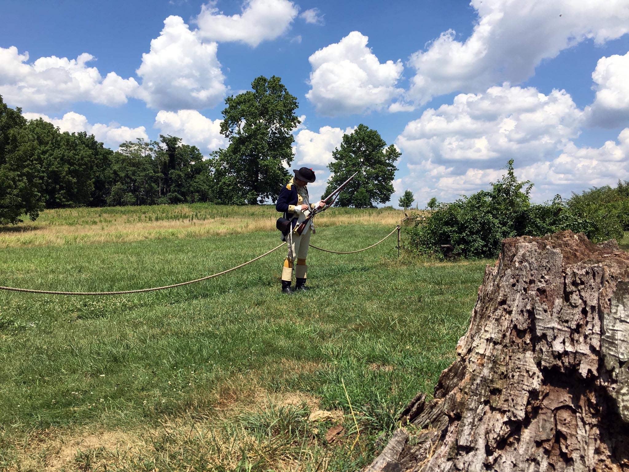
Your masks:
<path fill-rule="evenodd" d="M 147 208 L 147 207 L 142 207 Z M 148 207 L 152 208 L 152 207 Z M 159 207 L 156 207 L 159 208 Z M 193 209 L 186 205 L 174 206 L 172 213 L 191 215 Z M 229 208 L 229 207 L 226 207 Z M 257 211 L 245 211 L 231 207 L 233 216 L 215 218 L 168 218 L 155 221 L 131 213 L 108 213 L 108 208 L 78 208 L 74 210 L 46 210 L 35 222 L 25 222 L 13 227 L 0 227 L 0 248 L 30 247 L 68 244 L 101 244 L 106 242 L 133 242 L 150 239 L 183 239 L 223 236 L 257 231 L 272 231 L 279 213 L 269 206 L 253 207 Z M 100 210 L 97 216 L 90 215 Z M 120 209 L 117 209 L 120 210 Z M 169 208 L 170 210 L 170 208 Z M 82 215 L 81 213 L 85 213 Z M 388 227 L 398 225 L 403 218 L 401 210 L 393 208 L 348 211 L 331 208 L 316 216 L 320 228 L 336 225 L 379 224 Z"/>

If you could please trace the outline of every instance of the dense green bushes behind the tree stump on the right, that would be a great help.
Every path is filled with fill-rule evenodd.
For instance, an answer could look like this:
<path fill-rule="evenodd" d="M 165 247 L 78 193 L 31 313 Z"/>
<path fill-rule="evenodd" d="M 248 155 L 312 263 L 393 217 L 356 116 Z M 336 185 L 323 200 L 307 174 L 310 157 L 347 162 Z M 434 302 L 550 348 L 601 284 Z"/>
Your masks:
<path fill-rule="evenodd" d="M 629 229 L 629 182 L 593 188 L 568 200 L 559 195 L 547 203 L 530 203 L 533 184 L 519 182 L 513 160 L 507 173 L 491 190 L 463 196 L 454 203 L 440 203 L 428 215 L 413 214 L 415 223 L 405 228 L 406 249 L 443 258 L 496 257 L 505 238 L 543 236 L 562 230 L 585 233 L 593 242 L 622 239 Z"/>

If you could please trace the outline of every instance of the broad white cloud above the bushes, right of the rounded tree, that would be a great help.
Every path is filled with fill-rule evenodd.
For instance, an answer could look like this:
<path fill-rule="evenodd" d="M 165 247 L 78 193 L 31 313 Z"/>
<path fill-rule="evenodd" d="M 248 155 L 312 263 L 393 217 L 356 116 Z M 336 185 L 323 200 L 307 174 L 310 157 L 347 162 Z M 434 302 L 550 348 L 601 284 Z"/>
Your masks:
<path fill-rule="evenodd" d="M 545 95 L 534 87 L 490 87 L 459 94 L 452 104 L 428 108 L 406 125 L 397 144 L 411 162 L 493 167 L 516 159 L 534 162 L 554 155 L 577 137 L 583 121 L 569 94 Z"/>

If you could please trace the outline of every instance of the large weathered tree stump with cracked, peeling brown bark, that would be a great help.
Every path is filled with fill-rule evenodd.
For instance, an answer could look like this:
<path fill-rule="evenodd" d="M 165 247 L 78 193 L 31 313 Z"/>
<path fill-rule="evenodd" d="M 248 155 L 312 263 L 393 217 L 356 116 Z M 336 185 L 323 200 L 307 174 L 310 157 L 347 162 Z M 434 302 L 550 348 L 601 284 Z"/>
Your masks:
<path fill-rule="evenodd" d="M 629 471 L 629 254 L 584 235 L 504 240 L 421 427 L 375 471 Z M 377 463 L 377 466 L 376 466 Z"/>

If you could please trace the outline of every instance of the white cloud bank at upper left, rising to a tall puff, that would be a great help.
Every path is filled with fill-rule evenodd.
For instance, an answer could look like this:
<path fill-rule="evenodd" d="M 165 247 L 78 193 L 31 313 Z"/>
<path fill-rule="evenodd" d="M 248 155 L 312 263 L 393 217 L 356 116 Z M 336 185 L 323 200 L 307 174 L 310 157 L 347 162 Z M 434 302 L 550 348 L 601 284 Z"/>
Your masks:
<path fill-rule="evenodd" d="M 143 99 L 149 108 L 182 110 L 211 108 L 227 92 L 216 57 L 217 44 L 204 43 L 179 16 L 164 20 L 159 37 L 143 53 L 136 70 L 141 84 L 115 72 L 101 76 L 88 53 L 77 59 L 40 57 L 28 63 L 28 52 L 0 48 L 0 94 L 23 108 L 58 110 L 77 101 L 117 106 L 128 98 Z"/>

